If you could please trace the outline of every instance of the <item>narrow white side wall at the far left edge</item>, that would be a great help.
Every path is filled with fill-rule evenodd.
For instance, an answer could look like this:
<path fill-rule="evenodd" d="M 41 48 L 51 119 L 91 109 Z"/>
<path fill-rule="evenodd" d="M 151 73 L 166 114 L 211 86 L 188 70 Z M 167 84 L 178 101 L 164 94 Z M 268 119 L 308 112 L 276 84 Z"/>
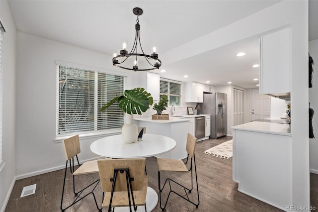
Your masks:
<path fill-rule="evenodd" d="M 0 211 L 4 211 L 15 182 L 15 76 L 16 76 L 16 28 L 6 0 L 0 1 L 3 35 L 3 129 L 2 156 L 5 165 L 0 170 Z"/>

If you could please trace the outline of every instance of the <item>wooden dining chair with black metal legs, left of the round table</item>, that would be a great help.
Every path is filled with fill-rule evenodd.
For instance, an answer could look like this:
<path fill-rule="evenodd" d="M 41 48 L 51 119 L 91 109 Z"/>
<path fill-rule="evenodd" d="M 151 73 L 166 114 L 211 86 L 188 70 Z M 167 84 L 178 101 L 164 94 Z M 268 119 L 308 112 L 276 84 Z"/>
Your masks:
<path fill-rule="evenodd" d="M 63 182 L 63 191 L 62 191 L 62 200 L 61 200 L 61 211 L 65 212 L 65 210 L 67 210 L 68 208 L 72 207 L 74 204 L 78 203 L 80 200 L 82 200 L 83 198 L 87 197 L 88 195 L 92 195 L 97 207 L 97 210 L 99 212 L 102 211 L 102 208 L 99 208 L 97 205 L 97 201 L 95 198 L 95 195 L 93 193 L 93 191 L 95 190 L 96 186 L 99 183 L 99 179 L 92 182 L 91 184 L 89 184 L 88 186 L 86 186 L 85 188 L 76 191 L 75 189 L 75 176 L 76 175 L 84 175 L 84 174 L 91 174 L 91 173 L 97 173 L 98 172 L 98 165 L 97 165 L 97 160 L 93 160 L 93 161 L 87 161 L 84 162 L 83 164 L 79 164 L 79 158 L 78 158 L 78 154 L 80 153 L 80 145 L 79 145 L 79 135 L 75 135 L 72 136 L 70 138 L 64 139 L 63 140 L 63 146 L 64 146 L 64 152 L 65 152 L 65 157 L 66 157 L 66 166 L 65 166 L 65 174 L 64 174 L 64 182 Z M 79 168 L 75 170 L 75 163 L 74 163 L 74 158 L 76 158 Z M 73 175 L 73 192 L 75 195 L 75 200 L 68 204 L 67 206 L 65 206 L 63 208 L 63 202 L 64 202 L 64 191 L 65 191 L 65 184 L 66 184 L 66 174 L 67 174 L 67 169 L 68 169 L 68 163 L 70 162 L 70 172 Z M 89 187 L 92 187 L 91 190 L 89 190 Z M 81 196 L 81 194 L 84 191 L 89 191 L 86 194 L 83 194 Z"/>

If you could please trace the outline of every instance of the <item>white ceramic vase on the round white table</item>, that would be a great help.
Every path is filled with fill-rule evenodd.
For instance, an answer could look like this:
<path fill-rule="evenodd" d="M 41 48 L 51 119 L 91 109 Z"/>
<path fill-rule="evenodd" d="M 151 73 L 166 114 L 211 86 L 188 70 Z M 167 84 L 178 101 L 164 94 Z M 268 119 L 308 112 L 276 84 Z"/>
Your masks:
<path fill-rule="evenodd" d="M 126 113 L 126 124 L 121 130 L 121 137 L 124 143 L 134 143 L 138 137 L 138 127 L 134 124 L 134 116 Z"/>

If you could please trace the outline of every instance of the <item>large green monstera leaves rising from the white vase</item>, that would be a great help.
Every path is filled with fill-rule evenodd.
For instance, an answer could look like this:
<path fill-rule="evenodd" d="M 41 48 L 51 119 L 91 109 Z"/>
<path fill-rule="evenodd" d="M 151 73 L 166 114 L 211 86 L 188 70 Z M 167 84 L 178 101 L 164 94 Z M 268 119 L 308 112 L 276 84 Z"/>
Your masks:
<path fill-rule="evenodd" d="M 150 93 L 145 91 L 144 88 L 134 88 L 132 90 L 125 90 L 123 95 L 115 97 L 106 103 L 100 108 L 100 111 L 105 110 L 116 102 L 119 108 L 128 114 L 141 114 L 142 112 L 146 112 L 146 110 L 150 108 L 149 106 L 154 103 L 153 97 Z"/>

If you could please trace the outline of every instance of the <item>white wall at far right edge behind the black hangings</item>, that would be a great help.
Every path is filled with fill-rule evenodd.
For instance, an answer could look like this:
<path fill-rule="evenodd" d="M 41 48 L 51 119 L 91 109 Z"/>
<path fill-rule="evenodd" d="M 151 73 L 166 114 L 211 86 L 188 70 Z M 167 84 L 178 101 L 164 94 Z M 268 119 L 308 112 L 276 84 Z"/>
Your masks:
<path fill-rule="evenodd" d="M 310 170 L 318 174 L 318 40 L 309 42 L 309 53 L 315 61 L 313 74 L 313 87 L 309 88 L 309 102 L 315 110 L 313 128 L 315 138 L 309 139 Z"/>

